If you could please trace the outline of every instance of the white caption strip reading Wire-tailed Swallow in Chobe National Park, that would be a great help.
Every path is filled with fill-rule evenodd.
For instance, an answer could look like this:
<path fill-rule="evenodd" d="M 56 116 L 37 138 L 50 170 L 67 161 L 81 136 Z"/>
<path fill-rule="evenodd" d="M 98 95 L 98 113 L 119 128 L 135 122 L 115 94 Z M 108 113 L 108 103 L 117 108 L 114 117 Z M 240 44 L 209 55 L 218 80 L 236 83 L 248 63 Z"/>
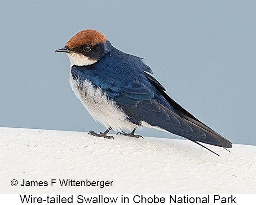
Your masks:
<path fill-rule="evenodd" d="M 0 194 L 0 204 L 236 204 L 256 203 L 256 194 Z"/>

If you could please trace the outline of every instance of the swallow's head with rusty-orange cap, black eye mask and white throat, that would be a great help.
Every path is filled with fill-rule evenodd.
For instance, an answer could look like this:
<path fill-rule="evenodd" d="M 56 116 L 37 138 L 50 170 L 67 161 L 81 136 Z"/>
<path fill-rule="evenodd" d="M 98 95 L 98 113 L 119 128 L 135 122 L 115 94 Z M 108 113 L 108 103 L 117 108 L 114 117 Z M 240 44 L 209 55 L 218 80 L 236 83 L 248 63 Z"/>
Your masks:
<path fill-rule="evenodd" d="M 56 52 L 66 52 L 72 65 L 91 65 L 99 61 L 107 52 L 107 39 L 95 30 L 84 30 L 73 36 L 64 48 Z"/>

